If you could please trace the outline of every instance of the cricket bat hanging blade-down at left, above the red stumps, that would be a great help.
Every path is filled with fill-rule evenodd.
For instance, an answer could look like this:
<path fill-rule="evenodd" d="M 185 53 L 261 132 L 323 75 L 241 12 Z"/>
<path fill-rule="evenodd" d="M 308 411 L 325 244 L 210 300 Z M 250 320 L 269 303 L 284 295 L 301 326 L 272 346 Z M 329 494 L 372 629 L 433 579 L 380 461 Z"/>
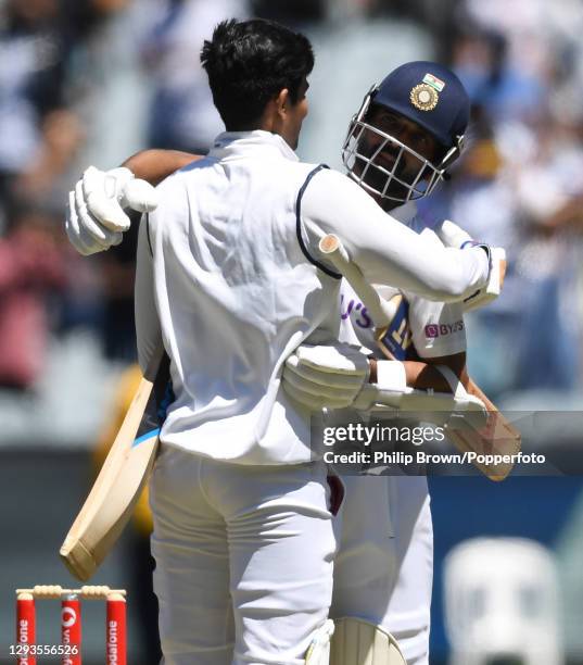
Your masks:
<path fill-rule="evenodd" d="M 111 551 L 148 481 L 169 381 L 162 341 L 134 396 L 99 476 L 61 547 L 69 573 L 87 581 Z"/>

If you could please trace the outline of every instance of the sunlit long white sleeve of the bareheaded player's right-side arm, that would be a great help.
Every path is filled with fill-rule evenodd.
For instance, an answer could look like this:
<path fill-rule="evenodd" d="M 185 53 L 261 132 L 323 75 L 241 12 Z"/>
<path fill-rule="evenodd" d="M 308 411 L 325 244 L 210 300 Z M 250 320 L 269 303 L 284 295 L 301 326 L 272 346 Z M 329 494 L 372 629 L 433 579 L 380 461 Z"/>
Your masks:
<path fill-rule="evenodd" d="M 301 218 L 309 253 L 335 234 L 368 281 L 386 284 L 429 300 L 456 301 L 485 285 L 489 259 L 481 248 L 435 247 L 388 215 L 356 183 L 329 170 L 312 179 Z"/>

